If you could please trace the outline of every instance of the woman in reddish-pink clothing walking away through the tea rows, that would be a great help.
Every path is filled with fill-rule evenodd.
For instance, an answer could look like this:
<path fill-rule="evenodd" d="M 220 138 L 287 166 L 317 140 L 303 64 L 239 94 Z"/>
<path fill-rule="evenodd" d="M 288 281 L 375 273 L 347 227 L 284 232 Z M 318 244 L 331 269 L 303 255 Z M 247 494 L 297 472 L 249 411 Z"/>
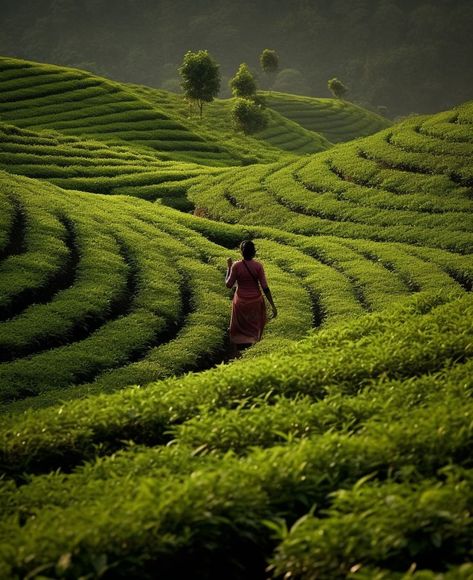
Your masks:
<path fill-rule="evenodd" d="M 227 275 L 225 284 L 237 289 L 232 301 L 232 316 L 230 320 L 230 342 L 232 355 L 237 356 L 239 347 L 249 346 L 261 339 L 266 324 L 266 305 L 261 289 L 271 305 L 273 317 L 278 314 L 271 291 L 266 282 L 263 265 L 253 258 L 256 255 L 255 245 L 251 241 L 242 242 L 240 251 L 243 260 L 233 263 L 227 260 Z"/>

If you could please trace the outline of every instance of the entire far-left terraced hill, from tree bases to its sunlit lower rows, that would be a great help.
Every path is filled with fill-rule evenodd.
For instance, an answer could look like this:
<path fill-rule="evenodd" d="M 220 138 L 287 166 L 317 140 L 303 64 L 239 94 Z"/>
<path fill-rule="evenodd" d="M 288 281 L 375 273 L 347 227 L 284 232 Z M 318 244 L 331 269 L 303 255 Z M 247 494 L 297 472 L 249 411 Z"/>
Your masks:
<path fill-rule="evenodd" d="M 198 175 L 331 146 L 272 110 L 268 128 L 245 137 L 231 129 L 231 100 L 217 100 L 202 124 L 180 96 L 64 67 L 0 58 L 0 87 L 0 168 L 184 210 Z"/>

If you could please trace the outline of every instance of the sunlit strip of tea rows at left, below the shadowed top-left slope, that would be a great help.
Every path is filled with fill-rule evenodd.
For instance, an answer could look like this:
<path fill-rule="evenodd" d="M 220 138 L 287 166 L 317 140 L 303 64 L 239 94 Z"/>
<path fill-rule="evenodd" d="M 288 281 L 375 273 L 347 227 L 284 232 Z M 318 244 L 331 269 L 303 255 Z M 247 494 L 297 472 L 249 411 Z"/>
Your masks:
<path fill-rule="evenodd" d="M 197 176 L 220 169 L 182 161 L 163 161 L 133 147 L 31 131 L 0 122 L 0 168 L 64 189 L 104 195 L 128 195 L 160 201 L 182 210 Z"/>

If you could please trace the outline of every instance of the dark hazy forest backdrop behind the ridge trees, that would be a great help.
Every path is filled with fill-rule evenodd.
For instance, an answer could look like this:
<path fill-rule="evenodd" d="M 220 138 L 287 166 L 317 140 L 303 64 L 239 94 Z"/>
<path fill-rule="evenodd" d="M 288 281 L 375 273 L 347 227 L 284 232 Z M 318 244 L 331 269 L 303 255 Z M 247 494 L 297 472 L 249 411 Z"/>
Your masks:
<path fill-rule="evenodd" d="M 0 54 L 79 67 L 179 91 L 187 50 L 208 49 L 222 93 L 241 62 L 260 74 L 277 51 L 273 88 L 347 99 L 395 118 L 473 98 L 471 0 L 0 0 Z"/>

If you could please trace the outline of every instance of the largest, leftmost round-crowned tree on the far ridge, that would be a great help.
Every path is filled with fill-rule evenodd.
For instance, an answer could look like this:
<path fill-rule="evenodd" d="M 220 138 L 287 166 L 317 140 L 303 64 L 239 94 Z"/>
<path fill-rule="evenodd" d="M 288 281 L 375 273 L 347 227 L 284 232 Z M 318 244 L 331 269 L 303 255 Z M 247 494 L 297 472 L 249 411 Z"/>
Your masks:
<path fill-rule="evenodd" d="M 188 51 L 179 74 L 185 97 L 197 103 L 202 118 L 204 103 L 211 103 L 220 91 L 220 67 L 207 50 Z"/>

